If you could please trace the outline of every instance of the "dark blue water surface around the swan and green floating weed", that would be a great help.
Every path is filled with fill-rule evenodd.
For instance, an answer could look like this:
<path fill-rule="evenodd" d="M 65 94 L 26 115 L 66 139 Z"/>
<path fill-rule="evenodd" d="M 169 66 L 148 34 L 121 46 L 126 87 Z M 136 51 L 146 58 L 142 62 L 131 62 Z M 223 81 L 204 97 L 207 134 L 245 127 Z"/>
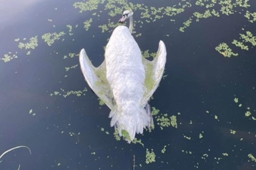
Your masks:
<path fill-rule="evenodd" d="M 100 65 L 104 60 L 103 47 L 111 35 L 101 33 L 98 28 L 110 18 L 108 10 L 99 6 L 92 12 L 78 13 L 74 2 L 0 1 L 0 57 L 9 51 L 12 54 L 17 51 L 19 56 L 7 63 L 0 61 L 0 153 L 19 145 L 26 145 L 32 151 L 32 155 L 25 148 L 9 152 L 0 160 L 1 170 L 17 169 L 19 164 L 21 170 L 132 170 L 133 155 L 138 165 L 136 170 L 255 169 L 256 163 L 247 155 L 256 156 L 256 121 L 249 119 L 256 117 L 256 50 L 247 44 L 249 51 L 241 51 L 231 44 L 232 40 L 239 40 L 239 33 L 244 33 L 242 28 L 255 35 L 255 23 L 235 13 L 193 21 L 182 33 L 179 28 L 183 22 L 194 11 L 201 10 L 192 1 L 193 7 L 171 18 L 175 23 L 165 16 L 156 22 L 144 21 L 142 28 L 135 26 L 135 31 L 142 33 L 141 37 L 135 37 L 142 51 L 155 52 L 159 40 L 165 42 L 167 49 L 165 75 L 168 76 L 161 81 L 150 105 L 169 116 L 181 113 L 177 116 L 177 129 L 161 130 L 156 125 L 152 133 L 136 135 L 145 144 L 142 147 L 116 141 L 112 135 L 114 128 L 109 126 L 110 110 L 99 105 L 79 65 L 68 72 L 65 70 L 78 64 L 78 57 L 63 59 L 64 55 L 78 54 L 82 48 L 95 66 Z M 162 7 L 180 1 L 136 2 Z M 251 0 L 249 4 L 248 10 L 255 12 L 256 3 Z M 100 14 L 100 19 L 95 19 L 85 31 L 83 22 L 94 12 Z M 135 20 L 140 12 L 135 12 Z M 120 16 L 114 19 L 118 21 Z M 73 26 L 72 36 L 68 35 L 68 24 Z M 74 28 L 76 24 L 78 28 Z M 44 33 L 62 30 L 66 35 L 51 47 L 41 39 Z M 28 40 L 36 35 L 38 47 L 31 50 L 31 55 L 26 55 L 26 51 L 17 47 L 18 42 L 14 42 L 17 38 Z M 221 42 L 229 44 L 239 56 L 225 58 L 219 54 L 215 47 Z M 85 87 L 88 91 L 80 97 L 50 96 L 61 88 L 78 91 Z M 234 102 L 235 97 L 242 107 Z M 244 116 L 246 107 L 250 107 L 250 117 Z M 30 109 L 35 116 L 29 114 Z M 230 129 L 236 133 L 231 134 Z M 199 133 L 203 138 L 199 139 Z M 164 145 L 167 145 L 166 152 L 162 154 Z M 146 148 L 154 149 L 155 163 L 145 163 Z M 186 153 L 189 151 L 192 154 Z M 203 159 L 203 154 L 208 157 Z"/>

